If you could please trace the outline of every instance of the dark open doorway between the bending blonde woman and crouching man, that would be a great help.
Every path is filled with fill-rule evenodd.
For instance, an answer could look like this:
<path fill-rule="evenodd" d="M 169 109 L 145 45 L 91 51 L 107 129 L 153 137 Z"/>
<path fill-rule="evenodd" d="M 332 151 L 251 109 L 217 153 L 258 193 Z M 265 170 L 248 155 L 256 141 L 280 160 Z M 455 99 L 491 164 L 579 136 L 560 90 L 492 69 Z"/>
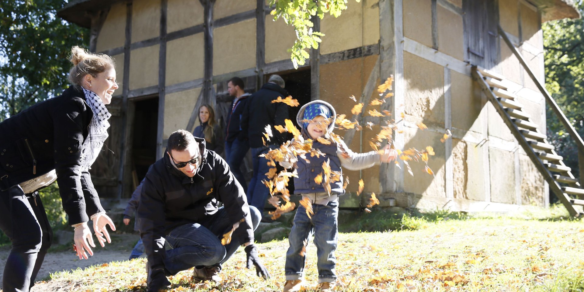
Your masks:
<path fill-rule="evenodd" d="M 156 162 L 158 96 L 136 100 L 131 126 L 131 178 L 133 189 L 140 184 L 148 167 Z"/>

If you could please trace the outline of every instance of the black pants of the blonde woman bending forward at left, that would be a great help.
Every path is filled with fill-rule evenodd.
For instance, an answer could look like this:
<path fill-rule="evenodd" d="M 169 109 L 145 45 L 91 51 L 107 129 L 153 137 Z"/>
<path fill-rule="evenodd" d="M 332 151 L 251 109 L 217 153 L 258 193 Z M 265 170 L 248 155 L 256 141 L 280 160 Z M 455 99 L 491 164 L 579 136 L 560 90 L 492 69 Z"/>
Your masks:
<path fill-rule="evenodd" d="M 3 289 L 29 291 L 53 241 L 39 193 L 25 194 L 20 186 L 0 191 L 0 229 L 12 242 L 4 267 Z"/>

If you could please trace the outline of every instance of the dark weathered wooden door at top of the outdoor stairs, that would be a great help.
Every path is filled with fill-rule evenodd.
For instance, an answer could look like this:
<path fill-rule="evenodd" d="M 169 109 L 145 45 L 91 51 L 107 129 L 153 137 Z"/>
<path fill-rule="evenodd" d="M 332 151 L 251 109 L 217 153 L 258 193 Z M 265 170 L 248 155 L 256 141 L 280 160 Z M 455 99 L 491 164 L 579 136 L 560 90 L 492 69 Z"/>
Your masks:
<path fill-rule="evenodd" d="M 464 39 L 467 44 L 467 60 L 472 65 L 492 69 L 498 64 L 497 0 L 464 0 Z"/>

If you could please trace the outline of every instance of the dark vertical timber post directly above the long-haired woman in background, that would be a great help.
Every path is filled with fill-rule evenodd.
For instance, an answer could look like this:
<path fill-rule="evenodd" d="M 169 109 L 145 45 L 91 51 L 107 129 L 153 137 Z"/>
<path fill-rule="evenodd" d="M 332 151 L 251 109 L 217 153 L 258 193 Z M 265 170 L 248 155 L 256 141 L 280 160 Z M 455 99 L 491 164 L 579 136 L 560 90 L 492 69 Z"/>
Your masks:
<path fill-rule="evenodd" d="M 211 102 L 211 87 L 213 87 L 213 6 L 215 0 L 203 0 L 204 32 L 205 32 L 205 72 L 203 82 L 203 98 L 205 103 Z"/>

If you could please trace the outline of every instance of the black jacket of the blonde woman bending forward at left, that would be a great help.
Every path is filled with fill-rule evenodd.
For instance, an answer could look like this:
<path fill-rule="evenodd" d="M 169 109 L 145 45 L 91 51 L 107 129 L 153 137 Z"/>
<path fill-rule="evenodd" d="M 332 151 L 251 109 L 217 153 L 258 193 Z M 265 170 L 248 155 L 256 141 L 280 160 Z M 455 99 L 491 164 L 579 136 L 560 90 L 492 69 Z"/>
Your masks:
<path fill-rule="evenodd" d="M 103 211 L 89 172 L 81 171 L 81 151 L 90 151 L 88 126 L 93 117 L 82 91 L 30 106 L 0 123 L 0 190 L 52 171 L 69 224 L 89 221 Z"/>

